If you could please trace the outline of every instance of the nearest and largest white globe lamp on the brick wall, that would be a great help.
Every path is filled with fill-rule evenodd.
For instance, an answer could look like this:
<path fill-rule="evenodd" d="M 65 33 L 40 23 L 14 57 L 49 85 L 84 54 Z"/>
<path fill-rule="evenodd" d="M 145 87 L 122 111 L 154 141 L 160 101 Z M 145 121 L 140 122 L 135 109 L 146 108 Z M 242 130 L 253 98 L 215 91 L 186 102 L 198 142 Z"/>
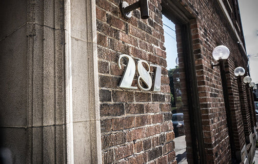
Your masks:
<path fill-rule="evenodd" d="M 212 51 L 212 56 L 215 60 L 219 61 L 219 64 L 214 64 L 213 62 L 211 63 L 212 69 L 216 66 L 221 66 L 224 70 L 224 61 L 228 58 L 229 56 L 229 49 L 226 46 L 217 46 L 214 48 Z"/>

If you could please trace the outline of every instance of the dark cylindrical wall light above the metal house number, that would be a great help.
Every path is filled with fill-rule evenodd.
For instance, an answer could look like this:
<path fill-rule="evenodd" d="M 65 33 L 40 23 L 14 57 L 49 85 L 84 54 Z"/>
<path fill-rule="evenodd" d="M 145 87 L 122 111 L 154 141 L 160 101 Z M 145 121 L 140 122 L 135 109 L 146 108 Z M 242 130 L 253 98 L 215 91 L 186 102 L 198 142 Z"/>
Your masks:
<path fill-rule="evenodd" d="M 141 18 L 148 19 L 150 17 L 148 0 L 140 0 L 140 1 L 135 2 L 132 5 L 129 5 L 127 2 L 122 2 L 120 4 L 121 12 L 123 13 L 123 15 L 126 18 L 130 18 L 132 16 L 131 11 L 133 11 L 139 7 L 141 10 Z"/>

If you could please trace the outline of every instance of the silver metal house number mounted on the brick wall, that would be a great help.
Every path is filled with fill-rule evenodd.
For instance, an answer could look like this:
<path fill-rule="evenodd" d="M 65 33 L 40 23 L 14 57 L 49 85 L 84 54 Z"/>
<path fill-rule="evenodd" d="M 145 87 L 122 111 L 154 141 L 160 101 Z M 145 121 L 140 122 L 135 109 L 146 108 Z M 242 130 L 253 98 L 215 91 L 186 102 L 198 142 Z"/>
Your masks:
<path fill-rule="evenodd" d="M 155 79 L 154 79 L 154 87 L 153 87 L 153 91 L 161 91 L 161 67 L 160 66 L 156 66 L 156 65 L 149 65 L 147 63 L 147 61 L 145 60 L 139 60 L 137 62 L 137 66 L 135 67 L 135 63 L 134 60 L 131 56 L 123 54 L 120 55 L 117 61 L 118 64 L 118 68 L 122 69 L 121 66 L 121 59 L 123 57 L 126 57 L 128 59 L 124 74 L 122 76 L 122 79 L 120 81 L 120 84 L 118 85 L 118 87 L 121 88 L 128 88 L 128 89 L 137 89 L 137 87 L 132 86 L 132 81 L 134 78 L 134 74 L 135 74 L 135 70 L 137 70 L 139 76 L 137 77 L 137 86 L 144 91 L 148 91 L 151 89 L 152 87 L 152 78 L 150 76 L 150 66 L 151 67 L 156 67 L 156 72 L 155 72 Z M 146 70 L 143 66 L 143 64 L 145 64 L 148 68 L 148 70 Z M 143 83 L 145 84 L 145 87 L 143 87 L 140 83 L 140 81 L 143 81 Z"/>

